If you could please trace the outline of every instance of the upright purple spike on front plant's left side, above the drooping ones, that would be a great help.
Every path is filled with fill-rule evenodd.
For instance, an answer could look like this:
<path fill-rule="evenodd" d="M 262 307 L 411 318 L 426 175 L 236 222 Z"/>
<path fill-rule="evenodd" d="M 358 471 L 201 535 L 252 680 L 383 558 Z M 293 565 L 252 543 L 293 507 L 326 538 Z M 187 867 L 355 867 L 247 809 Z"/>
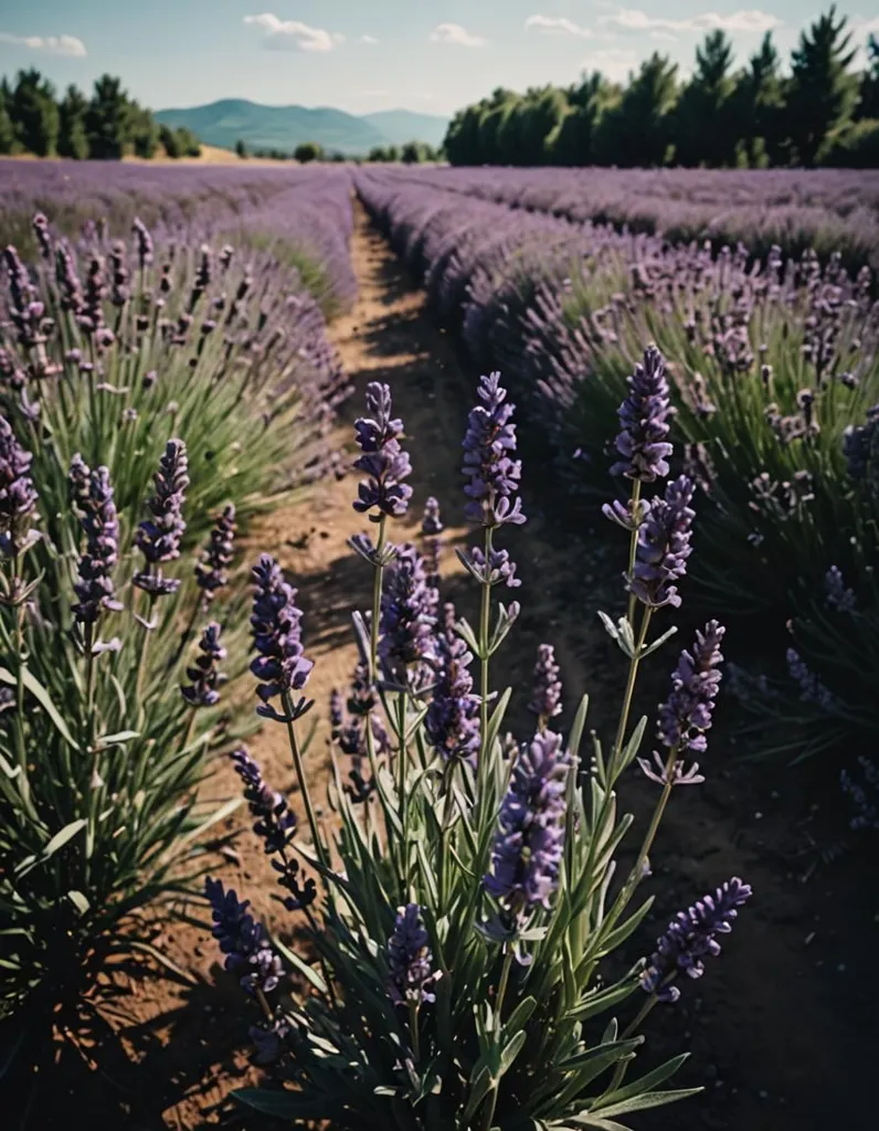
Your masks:
<path fill-rule="evenodd" d="M 314 666 L 302 647 L 302 612 L 296 607 L 296 590 L 287 585 L 281 567 L 270 554 L 262 554 L 253 567 L 257 592 L 250 618 L 253 647 L 259 653 L 250 671 L 261 682 L 257 694 L 264 703 L 275 696 L 301 691 Z M 258 708 L 267 718 L 277 718 L 270 708 Z"/>

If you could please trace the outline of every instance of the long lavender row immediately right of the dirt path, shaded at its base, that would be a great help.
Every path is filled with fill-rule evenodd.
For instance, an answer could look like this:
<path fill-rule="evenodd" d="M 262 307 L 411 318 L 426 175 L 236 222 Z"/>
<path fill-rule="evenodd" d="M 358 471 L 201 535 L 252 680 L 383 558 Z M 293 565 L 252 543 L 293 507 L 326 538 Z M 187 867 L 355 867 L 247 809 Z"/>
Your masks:
<path fill-rule="evenodd" d="M 669 359 L 674 435 L 700 485 L 697 581 L 767 644 L 738 673 L 760 744 L 874 744 L 879 308 L 867 268 L 572 224 L 388 172 L 357 189 L 439 316 L 498 365 L 568 490 L 609 495 L 606 435 L 640 343 Z M 785 639 L 785 624 L 792 639 Z M 743 636 L 751 633 L 743 633 Z M 777 663 L 776 663 L 777 662 Z M 777 675 L 777 679 L 775 677 Z M 802 724 L 792 728 L 791 720 Z"/>

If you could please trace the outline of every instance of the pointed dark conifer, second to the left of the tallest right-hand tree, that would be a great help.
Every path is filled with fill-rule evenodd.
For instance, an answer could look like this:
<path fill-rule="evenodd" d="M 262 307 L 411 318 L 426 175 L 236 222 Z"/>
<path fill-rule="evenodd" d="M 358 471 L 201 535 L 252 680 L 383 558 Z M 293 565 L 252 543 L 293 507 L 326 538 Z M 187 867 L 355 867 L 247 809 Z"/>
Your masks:
<path fill-rule="evenodd" d="M 674 158 L 681 165 L 732 165 L 736 137 L 731 113 L 735 83 L 732 43 L 709 32 L 696 49 L 696 70 L 674 114 Z"/>

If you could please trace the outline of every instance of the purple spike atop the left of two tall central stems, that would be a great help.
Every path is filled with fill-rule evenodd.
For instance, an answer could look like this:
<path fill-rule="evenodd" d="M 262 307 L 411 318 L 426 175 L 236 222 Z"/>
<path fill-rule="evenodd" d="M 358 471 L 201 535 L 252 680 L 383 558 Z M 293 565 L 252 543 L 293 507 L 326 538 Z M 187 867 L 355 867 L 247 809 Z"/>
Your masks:
<path fill-rule="evenodd" d="M 379 381 L 367 386 L 367 411 L 371 416 L 354 421 L 357 444 L 362 455 L 354 467 L 369 478 L 357 487 L 354 510 L 363 515 L 377 508 L 380 515 L 402 518 L 412 498 L 412 487 L 404 483 L 412 474 L 408 455 L 403 450 L 403 421 L 391 417 L 390 389 Z M 373 523 L 379 516 L 370 515 Z"/>

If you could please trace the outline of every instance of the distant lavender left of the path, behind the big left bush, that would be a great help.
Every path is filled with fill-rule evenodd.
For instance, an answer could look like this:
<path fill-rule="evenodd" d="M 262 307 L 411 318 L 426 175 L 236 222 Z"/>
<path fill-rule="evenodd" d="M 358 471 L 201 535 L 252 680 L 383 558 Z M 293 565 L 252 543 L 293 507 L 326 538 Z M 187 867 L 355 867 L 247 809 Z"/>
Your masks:
<path fill-rule="evenodd" d="M 35 254 L 31 219 L 38 211 L 70 239 L 107 216 L 118 228 L 138 217 L 156 238 L 186 232 L 189 242 L 243 242 L 288 259 L 292 251 L 316 296 L 336 312 L 356 293 L 350 193 L 344 169 L 0 161 L 0 243 Z"/>

